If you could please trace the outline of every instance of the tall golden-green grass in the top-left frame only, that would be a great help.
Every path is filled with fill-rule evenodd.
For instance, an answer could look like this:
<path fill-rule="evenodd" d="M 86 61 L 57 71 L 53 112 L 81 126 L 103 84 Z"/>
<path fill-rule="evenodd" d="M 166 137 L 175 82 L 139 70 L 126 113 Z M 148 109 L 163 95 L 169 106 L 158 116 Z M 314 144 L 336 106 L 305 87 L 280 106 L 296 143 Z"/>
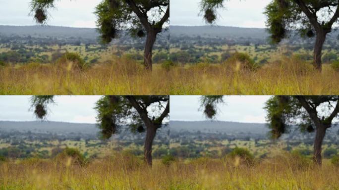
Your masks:
<path fill-rule="evenodd" d="M 30 63 L 0 69 L 2 95 L 168 95 L 168 73 L 160 65 L 153 72 L 140 63 L 118 59 L 84 70 L 72 63 Z"/>

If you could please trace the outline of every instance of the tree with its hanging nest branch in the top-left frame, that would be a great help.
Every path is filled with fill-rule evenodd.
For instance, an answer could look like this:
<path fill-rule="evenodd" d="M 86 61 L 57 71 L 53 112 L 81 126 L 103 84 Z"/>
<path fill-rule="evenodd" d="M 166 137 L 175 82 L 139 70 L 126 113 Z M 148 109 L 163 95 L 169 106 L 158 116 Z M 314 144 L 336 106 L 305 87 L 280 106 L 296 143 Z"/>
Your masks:
<path fill-rule="evenodd" d="M 31 12 L 38 23 L 48 19 L 48 9 L 56 0 L 32 0 Z M 156 37 L 169 22 L 169 0 L 102 0 L 95 14 L 102 41 L 110 43 L 121 31 L 129 31 L 133 37 L 144 37 L 144 65 L 152 70 L 152 50 Z"/>

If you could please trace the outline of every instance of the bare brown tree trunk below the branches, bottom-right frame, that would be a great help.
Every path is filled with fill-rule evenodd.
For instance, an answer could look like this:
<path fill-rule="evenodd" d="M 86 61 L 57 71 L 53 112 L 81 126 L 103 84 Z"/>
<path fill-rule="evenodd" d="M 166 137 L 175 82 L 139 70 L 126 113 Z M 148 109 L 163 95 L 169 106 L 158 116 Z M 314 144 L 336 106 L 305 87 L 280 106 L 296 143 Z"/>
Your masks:
<path fill-rule="evenodd" d="M 320 126 L 317 126 L 316 129 L 316 137 L 314 140 L 314 147 L 313 147 L 313 160 L 316 164 L 321 166 L 321 151 L 322 151 L 322 144 L 323 140 L 326 134 L 326 127 L 321 124 Z"/>

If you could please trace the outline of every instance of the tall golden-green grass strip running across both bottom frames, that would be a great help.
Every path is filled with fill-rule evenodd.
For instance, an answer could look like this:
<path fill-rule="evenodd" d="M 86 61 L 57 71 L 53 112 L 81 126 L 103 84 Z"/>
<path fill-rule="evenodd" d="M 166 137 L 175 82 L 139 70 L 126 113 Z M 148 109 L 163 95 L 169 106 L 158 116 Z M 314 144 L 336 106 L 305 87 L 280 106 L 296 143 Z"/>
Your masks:
<path fill-rule="evenodd" d="M 316 167 L 291 154 L 256 160 L 185 159 L 152 168 L 141 158 L 113 157 L 79 165 L 62 160 L 25 159 L 0 163 L 1 190 L 336 190 L 339 167 Z"/>

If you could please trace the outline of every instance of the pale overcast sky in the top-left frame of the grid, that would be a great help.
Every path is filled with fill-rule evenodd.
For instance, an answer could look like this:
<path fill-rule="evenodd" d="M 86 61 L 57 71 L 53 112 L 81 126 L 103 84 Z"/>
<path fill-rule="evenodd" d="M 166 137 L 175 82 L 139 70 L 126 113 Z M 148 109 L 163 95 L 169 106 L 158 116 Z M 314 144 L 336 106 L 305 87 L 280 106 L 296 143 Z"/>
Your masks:
<path fill-rule="evenodd" d="M 29 15 L 31 0 L 0 0 L 0 25 L 36 25 Z M 94 8 L 101 0 L 56 0 L 48 25 L 96 28 Z"/>

